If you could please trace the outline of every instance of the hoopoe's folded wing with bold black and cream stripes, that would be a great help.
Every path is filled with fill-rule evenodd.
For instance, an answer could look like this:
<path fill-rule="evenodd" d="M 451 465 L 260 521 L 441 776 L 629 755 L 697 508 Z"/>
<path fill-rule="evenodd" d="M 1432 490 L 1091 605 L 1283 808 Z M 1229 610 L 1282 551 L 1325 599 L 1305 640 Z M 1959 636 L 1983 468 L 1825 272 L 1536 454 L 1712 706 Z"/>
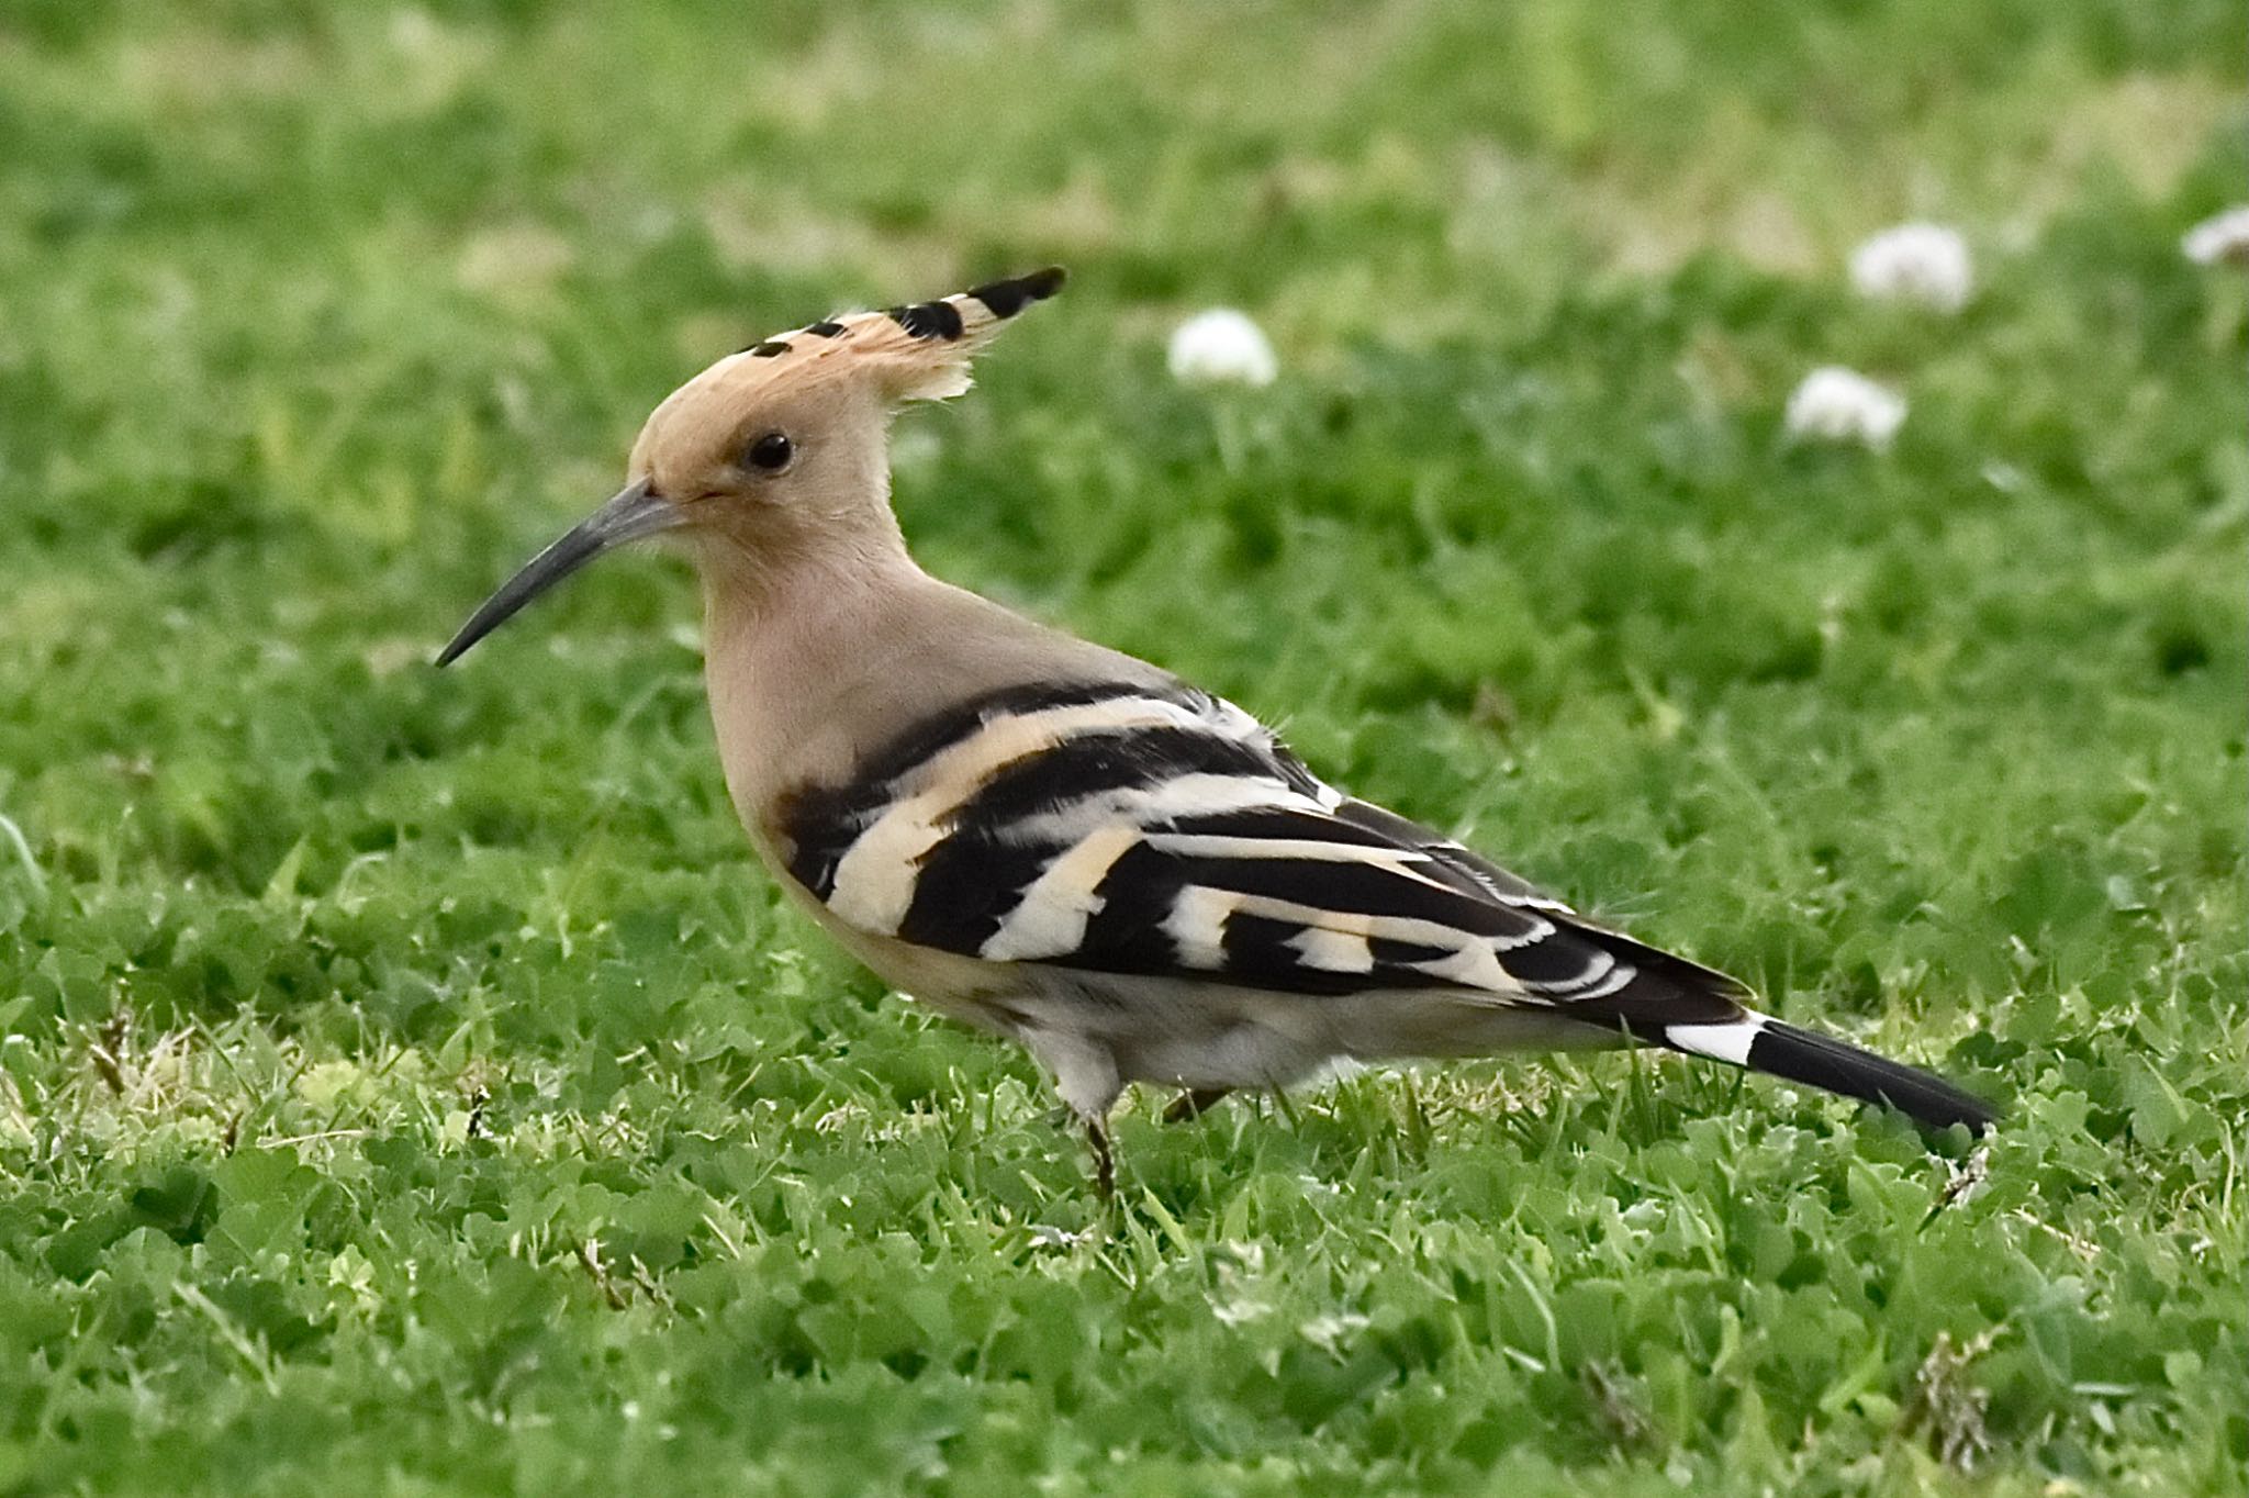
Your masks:
<path fill-rule="evenodd" d="M 1732 978 L 1343 796 L 1190 688 L 963 704 L 850 783 L 794 792 L 774 830 L 846 924 L 994 963 L 1295 994 L 1453 987 L 1651 1039 L 1741 1014 Z"/>

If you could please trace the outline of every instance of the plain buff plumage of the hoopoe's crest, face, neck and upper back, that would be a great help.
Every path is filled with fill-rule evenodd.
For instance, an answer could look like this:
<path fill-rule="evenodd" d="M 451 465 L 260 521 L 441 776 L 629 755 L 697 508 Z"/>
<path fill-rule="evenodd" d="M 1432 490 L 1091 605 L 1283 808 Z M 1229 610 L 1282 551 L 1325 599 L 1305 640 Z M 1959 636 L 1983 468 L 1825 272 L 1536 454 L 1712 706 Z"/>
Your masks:
<path fill-rule="evenodd" d="M 1003 283 L 1017 297 L 987 288 L 780 333 L 704 369 L 641 430 L 630 475 L 681 511 L 695 547 L 720 758 L 760 848 L 783 792 L 841 774 L 936 704 L 1059 668 L 1163 677 L 931 578 L 891 513 L 897 405 L 969 387 L 969 358 L 1005 322 L 985 295 L 1012 313 L 1059 283 L 1039 272 Z M 789 468 L 744 472 L 744 443 L 769 430 L 789 434 Z"/>

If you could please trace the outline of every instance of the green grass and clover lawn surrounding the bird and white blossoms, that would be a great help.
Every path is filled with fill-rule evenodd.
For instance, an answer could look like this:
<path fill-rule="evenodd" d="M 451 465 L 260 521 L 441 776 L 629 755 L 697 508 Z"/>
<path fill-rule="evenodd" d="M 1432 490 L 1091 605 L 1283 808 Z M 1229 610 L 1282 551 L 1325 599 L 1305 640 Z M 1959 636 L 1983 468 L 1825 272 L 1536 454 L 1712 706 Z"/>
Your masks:
<path fill-rule="evenodd" d="M 2242 1491 L 2238 20 L 16 0 L 0 1494 Z M 1914 214 L 1957 319 L 1844 286 Z M 704 360 L 1050 259 L 933 569 L 2004 1098 L 1984 1188 L 1610 1055 L 1142 1098 L 1104 1221 L 776 904 L 684 569 L 430 670 Z"/>

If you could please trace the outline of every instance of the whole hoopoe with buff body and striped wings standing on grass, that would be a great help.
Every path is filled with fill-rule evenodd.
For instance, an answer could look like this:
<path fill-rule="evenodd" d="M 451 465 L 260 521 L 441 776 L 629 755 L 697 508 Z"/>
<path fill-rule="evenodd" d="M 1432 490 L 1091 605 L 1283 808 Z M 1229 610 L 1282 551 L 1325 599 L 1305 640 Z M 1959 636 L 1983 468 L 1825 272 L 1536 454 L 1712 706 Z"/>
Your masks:
<path fill-rule="evenodd" d="M 1046 268 L 731 353 L 648 416 L 625 488 L 436 657 L 641 538 L 686 542 L 726 792 L 787 897 L 902 994 L 1014 1039 L 1084 1127 L 1370 1062 L 1653 1046 L 1979 1136 L 1968 1091 L 1754 1008 L 1464 843 L 1336 789 L 1169 670 L 954 587 L 891 508 L 888 427 L 969 387 Z"/>

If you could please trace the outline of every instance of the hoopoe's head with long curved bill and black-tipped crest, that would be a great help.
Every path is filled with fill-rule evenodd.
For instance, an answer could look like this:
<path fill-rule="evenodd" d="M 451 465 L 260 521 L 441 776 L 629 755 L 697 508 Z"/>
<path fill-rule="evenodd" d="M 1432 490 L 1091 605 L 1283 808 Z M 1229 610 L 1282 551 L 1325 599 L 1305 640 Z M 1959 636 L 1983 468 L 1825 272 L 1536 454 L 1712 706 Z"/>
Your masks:
<path fill-rule="evenodd" d="M 603 551 L 699 533 L 751 565 L 855 531 L 891 533 L 884 425 L 906 400 L 969 387 L 1003 322 L 1062 290 L 1062 270 L 852 313 L 731 353 L 663 398 L 632 445 L 630 484 L 531 558 L 439 655 L 445 666 Z"/>

